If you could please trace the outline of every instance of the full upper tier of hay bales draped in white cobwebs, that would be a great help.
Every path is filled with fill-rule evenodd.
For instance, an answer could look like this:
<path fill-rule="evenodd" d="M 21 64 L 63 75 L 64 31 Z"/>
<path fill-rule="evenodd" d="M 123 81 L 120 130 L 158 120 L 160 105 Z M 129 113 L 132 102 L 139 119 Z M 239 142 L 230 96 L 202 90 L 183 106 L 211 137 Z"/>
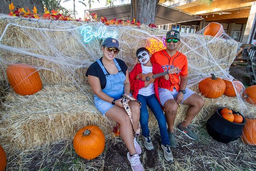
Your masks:
<path fill-rule="evenodd" d="M 0 16 L 0 35 L 3 35 L 0 41 L 0 81 L 6 83 L 5 70 L 9 63 L 22 62 L 35 66 L 44 84 L 84 84 L 87 79 L 84 76 L 87 68 L 102 56 L 102 39 L 93 38 L 90 42 L 83 42 L 84 32 L 83 27 L 80 27 L 82 25 L 96 30 L 105 27 L 102 23 L 29 21 L 1 19 Z M 165 31 L 146 26 L 106 28 L 118 34 L 121 51 L 117 58 L 125 61 L 129 71 L 137 62 L 136 50 L 144 47 L 147 40 L 152 37 L 161 42 L 166 34 Z M 188 58 L 189 84 L 194 84 L 202 75 L 228 71 L 236 57 L 237 42 L 232 39 L 183 33 L 181 39 L 179 50 Z"/>

